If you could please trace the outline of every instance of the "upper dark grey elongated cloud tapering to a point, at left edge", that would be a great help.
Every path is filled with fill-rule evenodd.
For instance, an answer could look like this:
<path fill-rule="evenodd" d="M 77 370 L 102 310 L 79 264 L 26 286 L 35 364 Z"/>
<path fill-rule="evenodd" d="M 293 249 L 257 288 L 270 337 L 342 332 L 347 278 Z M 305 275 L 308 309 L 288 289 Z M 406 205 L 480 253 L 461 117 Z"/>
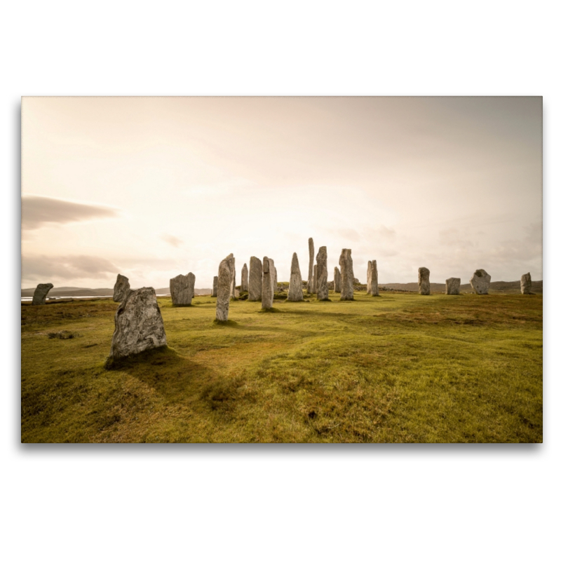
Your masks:
<path fill-rule="evenodd" d="M 67 224 L 96 218 L 114 218 L 114 208 L 100 205 L 71 203 L 60 198 L 36 195 L 22 196 L 22 229 L 34 230 L 48 224 Z"/>

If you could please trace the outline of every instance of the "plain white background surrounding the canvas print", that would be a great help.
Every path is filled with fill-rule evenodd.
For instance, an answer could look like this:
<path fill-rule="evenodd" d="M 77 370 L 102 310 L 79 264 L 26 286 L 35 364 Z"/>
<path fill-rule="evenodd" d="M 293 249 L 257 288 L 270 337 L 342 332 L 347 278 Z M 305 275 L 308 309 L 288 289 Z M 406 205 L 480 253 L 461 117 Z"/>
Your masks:
<path fill-rule="evenodd" d="M 4 5 L 4 559 L 560 558 L 558 22 L 536 1 Z M 542 445 L 20 444 L 20 96 L 273 94 L 543 95 Z"/>

